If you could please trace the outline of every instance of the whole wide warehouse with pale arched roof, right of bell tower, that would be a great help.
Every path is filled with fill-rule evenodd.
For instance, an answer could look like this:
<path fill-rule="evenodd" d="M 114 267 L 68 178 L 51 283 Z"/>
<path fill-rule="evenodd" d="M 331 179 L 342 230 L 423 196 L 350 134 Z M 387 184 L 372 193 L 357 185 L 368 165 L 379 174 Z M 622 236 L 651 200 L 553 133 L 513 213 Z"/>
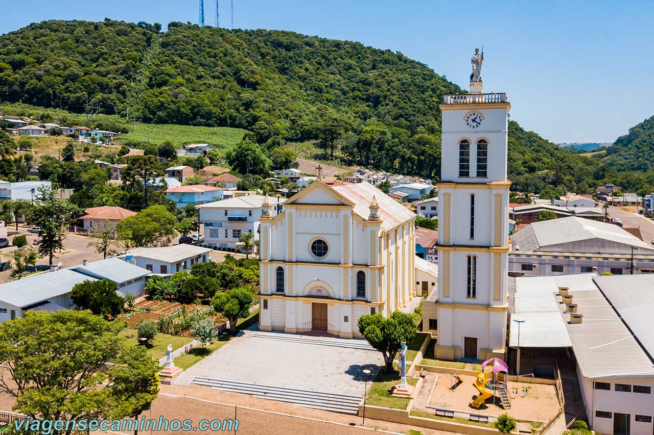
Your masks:
<path fill-rule="evenodd" d="M 621 275 L 632 264 L 634 273 L 653 272 L 654 246 L 612 223 L 571 216 L 535 222 L 511 235 L 509 273 Z"/>

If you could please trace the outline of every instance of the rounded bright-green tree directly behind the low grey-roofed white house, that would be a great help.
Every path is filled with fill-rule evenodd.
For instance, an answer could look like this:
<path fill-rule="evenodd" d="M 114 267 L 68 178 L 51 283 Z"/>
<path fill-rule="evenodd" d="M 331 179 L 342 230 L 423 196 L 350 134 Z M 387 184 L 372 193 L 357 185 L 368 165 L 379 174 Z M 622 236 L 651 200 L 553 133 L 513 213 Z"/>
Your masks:
<path fill-rule="evenodd" d="M 175 235 L 175 216 L 164 206 L 149 206 L 118 221 L 116 231 L 128 248 L 167 246 Z"/>

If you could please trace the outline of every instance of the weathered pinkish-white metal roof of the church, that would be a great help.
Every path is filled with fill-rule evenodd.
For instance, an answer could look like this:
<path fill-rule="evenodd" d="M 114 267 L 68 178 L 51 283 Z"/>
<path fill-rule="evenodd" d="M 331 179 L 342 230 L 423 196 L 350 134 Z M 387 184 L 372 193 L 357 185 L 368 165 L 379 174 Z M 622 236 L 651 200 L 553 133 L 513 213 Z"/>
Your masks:
<path fill-rule="evenodd" d="M 370 202 L 372 201 L 372 197 L 375 197 L 377 204 L 379 204 L 378 214 L 379 219 L 381 219 L 381 227 L 387 231 L 410 221 L 416 216 L 413 212 L 402 206 L 402 204 L 368 183 L 332 185 L 330 189 L 342 195 L 350 202 L 353 202 L 354 213 L 363 219 L 368 219 L 370 215 Z"/>

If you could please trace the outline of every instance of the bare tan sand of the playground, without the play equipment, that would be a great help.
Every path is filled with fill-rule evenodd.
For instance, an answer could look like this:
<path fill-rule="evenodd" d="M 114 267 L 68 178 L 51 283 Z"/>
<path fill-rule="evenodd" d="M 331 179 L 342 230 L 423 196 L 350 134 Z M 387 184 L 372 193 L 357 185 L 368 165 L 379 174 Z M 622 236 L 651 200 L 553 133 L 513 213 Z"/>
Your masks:
<path fill-rule="evenodd" d="M 453 391 L 450 391 L 450 378 L 449 374 L 438 374 L 436 388 L 434 388 L 434 393 L 429 400 L 430 406 L 492 416 L 498 416 L 501 413 L 508 412 L 511 417 L 531 421 L 547 421 L 559 410 L 559 400 L 557 400 L 554 385 L 509 381 L 510 391 L 508 393 L 511 397 L 511 409 L 505 411 L 502 408 L 499 396 L 496 396 L 495 404 L 493 404 L 493 397 L 490 396 L 486 400 L 485 405 L 479 409 L 470 406 L 470 402 L 479 395 L 479 391 L 473 385 L 475 381 L 474 376 L 461 375 L 460 378 L 463 382 L 459 383 Z M 455 380 L 453 379 L 453 381 Z M 428 395 L 432 385 L 432 382 L 429 385 L 423 385 L 419 396 Z M 523 393 L 524 388 L 527 388 L 526 395 Z M 518 390 L 517 396 L 514 395 L 515 389 Z M 492 390 L 490 392 L 492 393 Z M 422 400 L 417 400 L 417 403 L 426 403 L 426 397 L 423 396 L 421 398 Z M 425 408 L 421 411 L 434 412 L 434 409 Z"/>

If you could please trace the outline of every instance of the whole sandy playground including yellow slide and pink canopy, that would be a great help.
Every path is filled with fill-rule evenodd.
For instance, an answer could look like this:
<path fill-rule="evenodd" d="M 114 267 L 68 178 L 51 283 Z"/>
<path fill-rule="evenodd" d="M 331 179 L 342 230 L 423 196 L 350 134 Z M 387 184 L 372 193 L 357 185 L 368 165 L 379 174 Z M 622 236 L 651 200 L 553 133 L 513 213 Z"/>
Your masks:
<path fill-rule="evenodd" d="M 432 376 L 421 391 L 421 395 L 429 396 L 417 401 L 422 405 L 419 408 L 430 412 L 455 411 L 461 417 L 488 415 L 491 419 L 508 412 L 511 417 L 526 421 L 547 421 L 556 413 L 560 405 L 556 387 L 551 385 L 554 381 L 531 376 L 511 381 L 506 363 L 494 360 L 485 361 L 483 371 L 476 374 L 464 370 L 430 373 Z M 456 373 L 452 374 L 453 371 Z"/>

